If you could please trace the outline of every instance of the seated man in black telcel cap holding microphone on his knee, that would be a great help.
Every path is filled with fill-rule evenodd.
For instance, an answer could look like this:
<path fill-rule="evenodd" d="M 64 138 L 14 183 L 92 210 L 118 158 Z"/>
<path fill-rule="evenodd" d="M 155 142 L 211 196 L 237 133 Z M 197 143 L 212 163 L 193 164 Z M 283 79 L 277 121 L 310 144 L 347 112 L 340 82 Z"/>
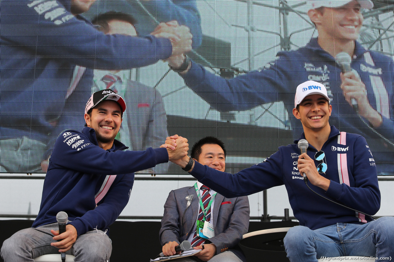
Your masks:
<path fill-rule="evenodd" d="M 110 258 L 112 246 L 106 232 L 128 203 L 133 172 L 180 159 L 188 150 L 187 140 L 180 138 L 175 151 L 121 151 L 126 147 L 115 136 L 125 109 L 121 96 L 111 89 L 100 90 L 86 104 L 87 127 L 60 134 L 50 157 L 39 214 L 32 228 L 4 242 L 5 261 L 27 262 L 59 252 L 74 255 L 76 261 Z M 59 211 L 66 212 L 69 220 L 60 235 Z"/>

